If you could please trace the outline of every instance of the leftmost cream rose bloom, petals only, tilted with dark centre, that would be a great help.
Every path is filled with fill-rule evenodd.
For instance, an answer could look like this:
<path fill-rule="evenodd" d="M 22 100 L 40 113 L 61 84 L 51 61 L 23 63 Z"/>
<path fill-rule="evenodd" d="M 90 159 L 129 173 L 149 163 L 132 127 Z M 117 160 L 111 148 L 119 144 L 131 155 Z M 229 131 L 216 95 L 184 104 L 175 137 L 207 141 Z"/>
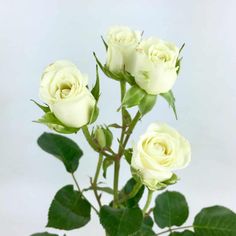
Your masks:
<path fill-rule="evenodd" d="M 73 63 L 56 61 L 42 75 L 40 97 L 63 124 L 80 128 L 89 122 L 96 102 L 86 85 L 87 77 Z"/>

